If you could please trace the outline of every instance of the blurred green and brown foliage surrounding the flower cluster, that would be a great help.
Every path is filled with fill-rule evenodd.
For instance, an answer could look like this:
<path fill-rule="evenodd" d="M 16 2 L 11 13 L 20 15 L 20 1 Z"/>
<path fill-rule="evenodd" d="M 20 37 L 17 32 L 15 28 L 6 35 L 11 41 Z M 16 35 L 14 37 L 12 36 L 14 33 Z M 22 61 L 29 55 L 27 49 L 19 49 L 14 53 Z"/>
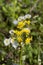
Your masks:
<path fill-rule="evenodd" d="M 26 63 L 38 63 L 38 55 L 43 51 L 43 0 L 0 0 L 0 64 L 18 63 L 19 52 L 12 46 L 5 46 L 4 39 L 9 38 L 9 30 L 15 29 L 14 20 L 19 16 L 31 14 L 30 36 L 31 44 L 26 45 L 23 55 Z M 2 24 L 3 23 L 3 24 Z M 28 59 L 29 61 L 27 61 Z M 43 60 L 42 60 L 43 61 Z M 25 63 L 25 64 L 26 64 Z M 13 64 L 12 64 L 13 65 Z M 43 64 L 42 64 L 43 65 Z"/>

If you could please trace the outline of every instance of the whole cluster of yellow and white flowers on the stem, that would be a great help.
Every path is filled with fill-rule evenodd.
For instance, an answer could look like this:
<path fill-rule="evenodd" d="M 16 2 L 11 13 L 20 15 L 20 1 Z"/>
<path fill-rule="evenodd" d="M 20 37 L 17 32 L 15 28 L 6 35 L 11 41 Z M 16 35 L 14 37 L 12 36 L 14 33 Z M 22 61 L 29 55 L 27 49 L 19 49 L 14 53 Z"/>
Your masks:
<path fill-rule="evenodd" d="M 32 40 L 32 37 L 29 37 L 30 34 L 30 18 L 31 15 L 25 15 L 24 17 L 19 17 L 18 20 L 15 20 L 13 23 L 16 25 L 16 29 L 10 30 L 10 38 L 7 39 L 5 38 L 4 44 L 5 46 L 8 46 L 11 44 L 15 49 L 19 45 L 25 45 L 29 44 L 30 41 Z"/>

